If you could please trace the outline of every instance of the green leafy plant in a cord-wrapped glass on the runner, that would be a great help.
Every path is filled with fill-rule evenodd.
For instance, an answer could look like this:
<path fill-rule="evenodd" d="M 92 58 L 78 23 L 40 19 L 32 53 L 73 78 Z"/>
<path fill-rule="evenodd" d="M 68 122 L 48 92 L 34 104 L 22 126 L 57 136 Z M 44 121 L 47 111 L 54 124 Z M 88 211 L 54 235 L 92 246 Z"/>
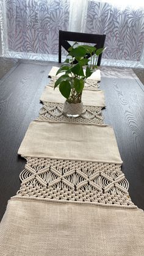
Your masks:
<path fill-rule="evenodd" d="M 68 51 L 68 58 L 56 73 L 63 75 L 55 82 L 54 89 L 59 86 L 60 93 L 66 98 L 64 114 L 68 117 L 78 117 L 83 110 L 81 98 L 84 82 L 97 68 L 97 57 L 103 53 L 104 48 L 96 49 L 94 46 L 74 43 Z M 87 59 L 88 54 L 90 54 L 89 59 Z"/>

